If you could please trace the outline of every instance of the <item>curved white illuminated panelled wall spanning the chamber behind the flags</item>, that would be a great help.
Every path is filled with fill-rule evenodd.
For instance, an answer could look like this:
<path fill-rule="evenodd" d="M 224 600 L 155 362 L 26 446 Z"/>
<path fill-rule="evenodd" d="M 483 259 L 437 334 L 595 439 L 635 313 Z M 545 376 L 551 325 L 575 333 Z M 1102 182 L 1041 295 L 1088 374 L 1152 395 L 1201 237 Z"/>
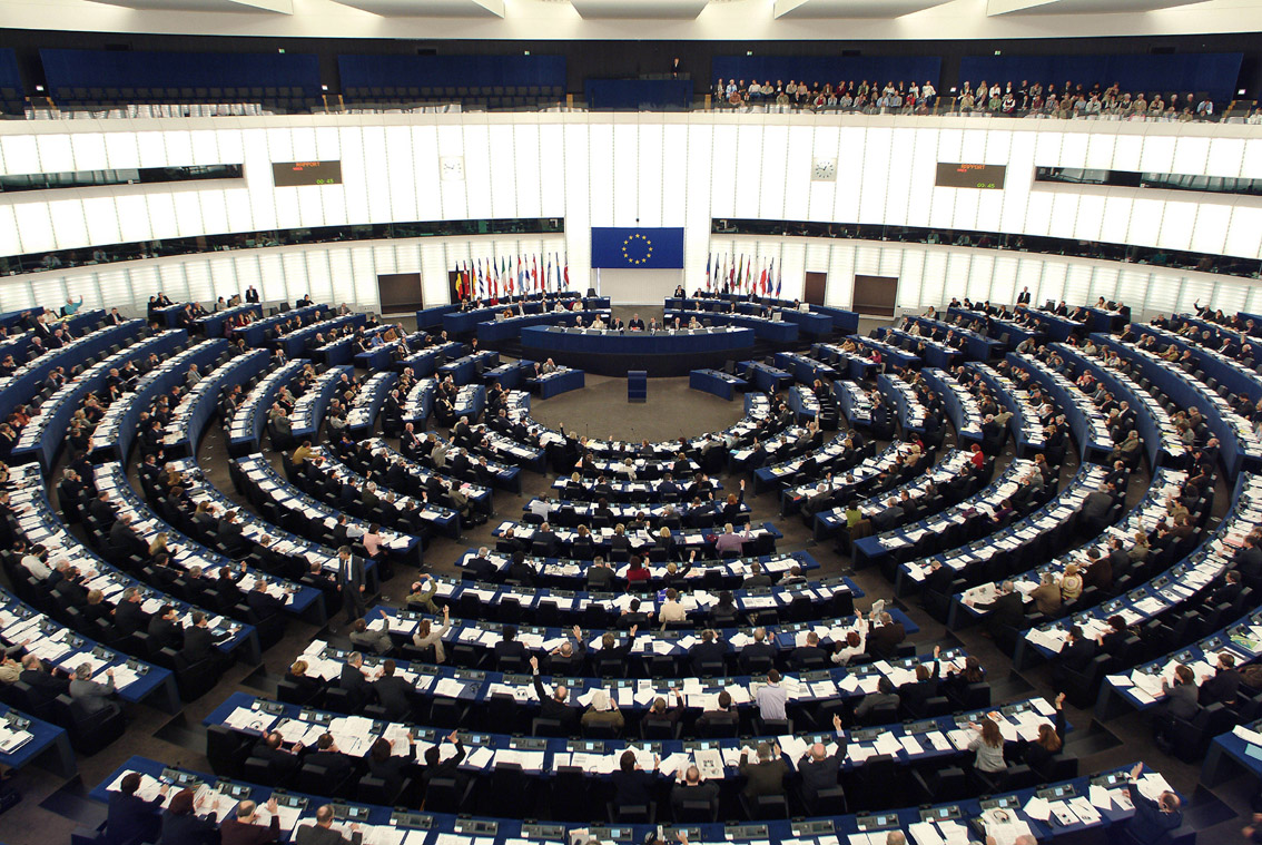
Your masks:
<path fill-rule="evenodd" d="M 39 134 L 27 126 L 3 126 L 3 173 L 240 162 L 245 182 L 3 196 L 0 254 L 90 250 L 97 244 L 276 227 L 555 216 L 565 220 L 567 232 L 553 239 L 563 248 L 549 251 L 568 253 L 573 284 L 579 288 L 586 287 L 591 226 L 634 226 L 637 219 L 644 226 L 685 229 L 689 288 L 704 283 L 707 258 L 719 251 L 718 240 L 709 235 L 714 217 L 859 224 L 872 231 L 882 225 L 930 225 L 1051 234 L 1262 259 L 1262 210 L 1251 197 L 1031 187 L 1036 164 L 1262 178 L 1262 139 L 1235 136 L 1229 125 L 1206 134 L 1199 125 L 1177 124 L 1146 125 L 1140 131 L 1135 125 L 1108 123 L 834 121 L 726 114 L 375 120 L 328 117 L 293 126 L 284 117 L 117 121 L 42 126 L 48 131 Z M 463 179 L 439 178 L 443 157 L 463 159 Z M 341 186 L 278 189 L 273 184 L 271 162 L 334 158 L 342 160 Z M 810 181 L 811 164 L 819 158 L 837 162 L 835 182 Z M 938 162 L 1006 164 L 1007 187 L 935 188 Z M 462 240 L 459 249 L 457 240 L 350 251 L 345 244 L 313 246 L 326 250 L 323 258 L 309 263 L 312 256 L 304 256 L 298 264 L 260 250 L 249 258 L 233 255 L 228 264 L 218 256 L 213 263 L 203 260 L 201 268 L 182 261 L 177 270 L 151 272 L 148 283 L 153 287 L 160 280 L 168 296 L 180 298 L 252 279 L 265 297 L 290 301 L 308 287 L 323 285 L 329 296 L 353 291 L 357 302 L 370 304 L 376 298 L 376 273 L 404 267 L 423 274 L 427 302 L 443 301 L 452 256 L 461 249 L 471 256 L 487 255 L 471 246 L 477 239 Z M 332 249 L 342 251 L 327 251 Z M 510 255 L 522 248 L 521 243 L 495 241 L 495 249 Z M 960 249 L 949 250 L 948 260 L 931 246 L 839 241 L 811 246 L 799 239 L 770 239 L 747 249 L 757 268 L 771 258 L 782 267 L 785 296 L 791 285 L 800 291 L 801 274 L 811 265 L 828 272 L 829 301 L 842 304 L 849 301 L 854 272 L 900 275 L 905 280 L 900 304 L 940 304 L 960 284 L 1000 301 L 1011 298 L 1010 288 L 1023 287 L 1023 279 L 1034 279 L 1039 299 L 1073 298 L 1079 291 L 1094 298 L 1117 289 L 1141 308 L 1167 302 L 1172 307 L 1189 291 L 1191 296 L 1208 291 L 1206 296 L 1228 303 L 1252 297 L 1247 283 L 1224 277 L 1212 277 L 1209 288 L 1189 287 L 1184 279 L 1195 274 L 1177 275 L 1174 283 L 1172 272 L 1153 272 L 1150 278 L 1088 261 L 1069 272 L 1074 261 L 1056 256 Z M 1083 275 L 1088 264 L 1094 269 Z M 76 270 L 74 284 L 101 291 L 105 280 L 117 283 L 117 272 L 116 267 L 83 268 Z M 130 270 L 126 274 L 130 282 Z M 4 287 L 21 293 L 3 293 L 0 301 L 38 297 L 30 283 L 16 277 Z M 146 298 L 140 287 L 129 289 L 136 299 Z"/>

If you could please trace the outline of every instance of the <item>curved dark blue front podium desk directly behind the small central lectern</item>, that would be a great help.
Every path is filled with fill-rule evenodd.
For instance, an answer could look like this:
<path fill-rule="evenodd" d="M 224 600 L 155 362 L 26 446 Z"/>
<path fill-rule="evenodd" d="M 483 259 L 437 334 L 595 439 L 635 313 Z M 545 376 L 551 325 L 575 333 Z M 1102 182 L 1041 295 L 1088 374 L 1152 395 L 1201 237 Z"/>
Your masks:
<path fill-rule="evenodd" d="M 751 328 L 698 328 L 678 332 L 562 331 L 533 326 L 521 331 L 522 355 L 534 360 L 582 368 L 601 375 L 687 375 L 689 370 L 722 369 L 753 349 Z"/>

